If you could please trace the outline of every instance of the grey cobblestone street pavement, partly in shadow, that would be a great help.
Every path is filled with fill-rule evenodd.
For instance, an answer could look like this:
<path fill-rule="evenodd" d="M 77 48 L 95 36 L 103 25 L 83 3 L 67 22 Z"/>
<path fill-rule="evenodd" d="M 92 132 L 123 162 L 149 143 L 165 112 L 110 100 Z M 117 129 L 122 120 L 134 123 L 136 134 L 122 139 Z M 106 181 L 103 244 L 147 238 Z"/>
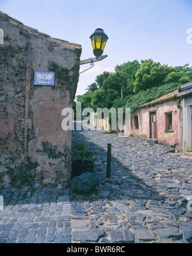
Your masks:
<path fill-rule="evenodd" d="M 99 186 L 89 194 L 70 188 L 1 191 L 0 243 L 192 242 L 190 158 L 170 153 L 168 146 L 99 131 L 73 132 L 72 141 L 92 149 Z"/>

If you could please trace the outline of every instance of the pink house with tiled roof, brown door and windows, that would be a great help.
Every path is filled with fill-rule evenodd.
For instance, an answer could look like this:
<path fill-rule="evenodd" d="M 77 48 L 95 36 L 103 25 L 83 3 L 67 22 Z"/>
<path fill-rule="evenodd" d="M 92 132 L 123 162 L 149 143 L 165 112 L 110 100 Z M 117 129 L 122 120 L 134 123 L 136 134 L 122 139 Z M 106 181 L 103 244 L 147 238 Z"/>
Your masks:
<path fill-rule="evenodd" d="M 178 90 L 138 107 L 131 118 L 131 135 L 180 149 Z"/>

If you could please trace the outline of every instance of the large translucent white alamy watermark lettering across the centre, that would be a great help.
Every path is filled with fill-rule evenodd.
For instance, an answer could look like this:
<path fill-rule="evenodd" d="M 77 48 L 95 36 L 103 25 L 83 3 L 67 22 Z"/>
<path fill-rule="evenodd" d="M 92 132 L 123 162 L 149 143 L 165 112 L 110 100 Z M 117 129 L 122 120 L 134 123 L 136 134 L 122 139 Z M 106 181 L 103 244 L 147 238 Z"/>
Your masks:
<path fill-rule="evenodd" d="M 110 119 L 109 119 L 110 114 Z M 72 108 L 63 108 L 61 115 L 65 115 L 61 127 L 67 130 L 104 130 L 120 132 L 124 131 L 129 135 L 131 132 L 131 108 L 97 108 L 97 112 L 93 108 L 81 109 L 81 103 L 76 103 L 76 129 L 74 124 L 74 110 Z M 109 121 L 110 120 L 110 121 Z M 82 125 L 83 121 L 83 125 Z"/>

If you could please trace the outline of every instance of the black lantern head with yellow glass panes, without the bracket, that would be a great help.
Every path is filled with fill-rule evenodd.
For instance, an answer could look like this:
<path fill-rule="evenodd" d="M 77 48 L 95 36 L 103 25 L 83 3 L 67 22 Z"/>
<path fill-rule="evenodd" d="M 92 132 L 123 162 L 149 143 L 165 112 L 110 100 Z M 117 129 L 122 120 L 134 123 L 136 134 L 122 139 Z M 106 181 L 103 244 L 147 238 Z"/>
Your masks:
<path fill-rule="evenodd" d="M 96 57 L 101 56 L 104 51 L 104 47 L 106 46 L 108 36 L 104 33 L 102 28 L 97 28 L 90 38 L 92 40 L 93 54 Z"/>

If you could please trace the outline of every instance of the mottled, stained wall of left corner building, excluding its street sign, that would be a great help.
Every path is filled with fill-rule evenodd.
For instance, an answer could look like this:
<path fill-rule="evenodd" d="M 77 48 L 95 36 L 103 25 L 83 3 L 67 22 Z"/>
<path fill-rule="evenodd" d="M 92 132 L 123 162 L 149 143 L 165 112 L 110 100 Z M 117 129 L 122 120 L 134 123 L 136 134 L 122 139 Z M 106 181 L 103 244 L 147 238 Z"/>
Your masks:
<path fill-rule="evenodd" d="M 51 38 L 0 12 L 0 179 L 2 187 L 65 187 L 71 133 L 61 112 L 71 107 L 81 46 Z M 54 72 L 54 86 L 34 85 L 35 71 Z"/>

